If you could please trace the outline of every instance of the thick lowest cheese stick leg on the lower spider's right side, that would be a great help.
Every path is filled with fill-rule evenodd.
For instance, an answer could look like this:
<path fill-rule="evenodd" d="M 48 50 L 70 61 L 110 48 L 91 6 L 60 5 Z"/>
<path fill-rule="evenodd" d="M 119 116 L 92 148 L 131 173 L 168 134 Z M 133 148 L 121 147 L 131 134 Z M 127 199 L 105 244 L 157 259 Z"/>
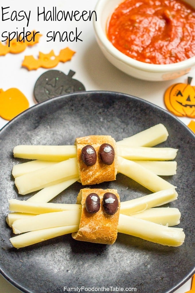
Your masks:
<path fill-rule="evenodd" d="M 154 243 L 167 246 L 180 246 L 185 234 L 181 229 L 167 227 L 142 219 L 120 214 L 118 232 L 136 236 Z"/>

